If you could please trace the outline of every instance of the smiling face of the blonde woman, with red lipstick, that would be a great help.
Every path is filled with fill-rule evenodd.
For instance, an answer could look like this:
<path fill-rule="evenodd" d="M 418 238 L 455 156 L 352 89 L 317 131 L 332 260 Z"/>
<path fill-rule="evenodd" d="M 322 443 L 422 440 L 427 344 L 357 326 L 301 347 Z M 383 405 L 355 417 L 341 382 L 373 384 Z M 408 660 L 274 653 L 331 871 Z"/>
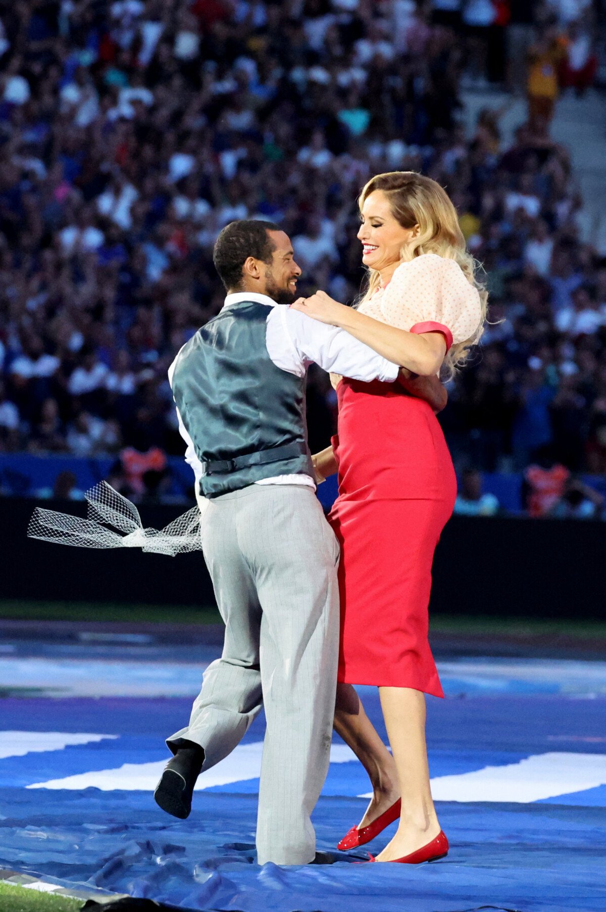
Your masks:
<path fill-rule="evenodd" d="M 357 233 L 362 241 L 362 262 L 370 269 L 385 269 L 400 262 L 402 247 L 418 234 L 418 225 L 403 228 L 392 212 L 385 193 L 369 193 L 362 206 L 362 224 Z"/>

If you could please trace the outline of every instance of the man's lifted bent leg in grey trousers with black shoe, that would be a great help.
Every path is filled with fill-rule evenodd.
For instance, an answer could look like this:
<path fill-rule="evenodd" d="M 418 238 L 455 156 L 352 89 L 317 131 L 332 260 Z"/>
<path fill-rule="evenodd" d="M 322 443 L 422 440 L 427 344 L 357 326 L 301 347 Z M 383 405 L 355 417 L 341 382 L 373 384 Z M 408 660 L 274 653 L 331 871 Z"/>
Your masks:
<path fill-rule="evenodd" d="M 237 541 L 237 498 L 216 498 L 202 523 L 202 544 L 217 605 L 225 622 L 221 658 L 203 675 L 190 723 L 167 741 L 175 754 L 162 774 L 156 801 L 179 817 L 190 813 L 198 775 L 240 743 L 262 707 L 259 636 L 261 607 Z"/>

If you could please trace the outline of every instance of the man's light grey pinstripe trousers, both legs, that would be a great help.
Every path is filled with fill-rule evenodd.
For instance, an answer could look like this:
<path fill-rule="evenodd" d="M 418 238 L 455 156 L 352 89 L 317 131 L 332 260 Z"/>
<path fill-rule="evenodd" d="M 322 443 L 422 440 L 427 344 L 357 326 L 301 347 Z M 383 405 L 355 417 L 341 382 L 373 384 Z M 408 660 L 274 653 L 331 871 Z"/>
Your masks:
<path fill-rule="evenodd" d="M 190 724 L 172 735 L 204 749 L 208 770 L 262 705 L 259 864 L 305 865 L 310 815 L 328 771 L 334 718 L 339 545 L 309 487 L 252 484 L 208 504 L 204 557 L 221 617 L 221 658 L 203 677 Z"/>

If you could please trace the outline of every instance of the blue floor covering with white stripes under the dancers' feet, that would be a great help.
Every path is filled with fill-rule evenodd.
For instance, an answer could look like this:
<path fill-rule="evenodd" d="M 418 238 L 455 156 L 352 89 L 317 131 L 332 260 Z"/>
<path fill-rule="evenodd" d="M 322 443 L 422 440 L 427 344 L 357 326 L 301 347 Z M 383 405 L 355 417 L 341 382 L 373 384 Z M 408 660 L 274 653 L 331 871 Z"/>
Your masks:
<path fill-rule="evenodd" d="M 582 663 L 574 665 L 577 680 Z M 488 695 L 479 677 L 478 686 L 470 683 L 468 669 L 465 684 L 451 675 L 447 699 L 428 701 L 432 778 L 528 758 L 540 762 L 554 751 L 578 755 L 580 762 L 594 758 L 599 767 L 606 753 L 606 696 L 595 687 L 595 666 L 587 663 L 586 670 L 591 686 L 572 694 L 565 675 L 556 675 L 559 687 L 539 674 L 530 674 L 524 686 L 512 672 L 511 687 Z M 364 689 L 364 699 L 385 737 L 375 691 Z M 7 737 L 20 731 L 108 736 L 60 750 L 0 753 L 0 866 L 62 886 L 100 887 L 196 910 L 606 910 L 606 780 L 578 789 L 572 776 L 569 792 L 560 788 L 527 803 L 440 801 L 451 850 L 429 865 L 354 864 L 365 857 L 358 851 L 340 855 L 334 865 L 297 868 L 256 865 L 255 778 L 197 792 L 187 821 L 162 814 L 150 791 L 26 787 L 125 763 L 161 762 L 163 738 L 187 720 L 190 703 L 190 697 L 129 696 L 0 700 Z M 245 741 L 256 744 L 262 735 L 260 719 Z M 313 815 L 319 849 L 334 850 L 361 817 L 366 801 L 358 795 L 366 791 L 356 763 L 331 764 Z M 368 849 L 380 851 L 392 832 Z"/>

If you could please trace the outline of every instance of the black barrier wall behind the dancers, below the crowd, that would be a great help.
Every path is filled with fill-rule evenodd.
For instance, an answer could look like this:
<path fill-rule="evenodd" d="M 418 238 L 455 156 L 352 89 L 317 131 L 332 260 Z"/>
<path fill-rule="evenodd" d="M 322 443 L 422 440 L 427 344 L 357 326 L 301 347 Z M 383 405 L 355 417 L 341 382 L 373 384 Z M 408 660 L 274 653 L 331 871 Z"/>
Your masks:
<path fill-rule="evenodd" d="M 84 515 L 80 503 L 48 508 Z M 201 552 L 165 557 L 26 538 L 36 502 L 0 499 L 0 598 L 208 606 Z M 141 507 L 157 529 L 182 506 Z M 369 542 L 372 547 L 372 542 Z M 438 545 L 432 610 L 502 617 L 606 617 L 606 523 L 454 517 Z M 313 568 L 310 567 L 310 572 Z"/>

